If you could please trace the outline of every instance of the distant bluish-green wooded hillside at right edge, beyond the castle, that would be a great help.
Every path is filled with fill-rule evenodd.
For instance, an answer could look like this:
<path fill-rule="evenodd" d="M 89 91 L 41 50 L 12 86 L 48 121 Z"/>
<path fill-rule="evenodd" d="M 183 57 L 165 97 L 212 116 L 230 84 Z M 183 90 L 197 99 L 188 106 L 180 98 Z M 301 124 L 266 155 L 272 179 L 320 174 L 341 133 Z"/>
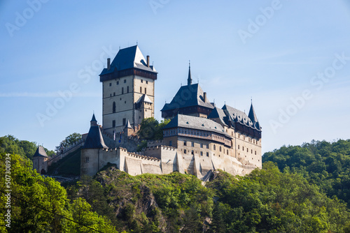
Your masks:
<path fill-rule="evenodd" d="M 282 146 L 265 153 L 262 161 L 272 161 L 280 170 L 299 172 L 328 197 L 337 196 L 350 206 L 350 140 Z"/>

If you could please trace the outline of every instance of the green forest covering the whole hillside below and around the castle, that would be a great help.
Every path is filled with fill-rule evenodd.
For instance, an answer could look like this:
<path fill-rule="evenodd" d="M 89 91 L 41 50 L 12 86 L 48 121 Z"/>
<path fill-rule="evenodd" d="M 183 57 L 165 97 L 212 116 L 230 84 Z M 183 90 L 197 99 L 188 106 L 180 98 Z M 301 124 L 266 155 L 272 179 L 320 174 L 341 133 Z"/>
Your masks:
<path fill-rule="evenodd" d="M 1 214 L 10 153 L 11 227 L 1 218 L 0 232 L 350 232 L 350 140 L 282 146 L 264 154 L 261 170 L 216 170 L 207 183 L 179 172 L 130 176 L 112 164 L 59 183 L 6 137 Z"/>

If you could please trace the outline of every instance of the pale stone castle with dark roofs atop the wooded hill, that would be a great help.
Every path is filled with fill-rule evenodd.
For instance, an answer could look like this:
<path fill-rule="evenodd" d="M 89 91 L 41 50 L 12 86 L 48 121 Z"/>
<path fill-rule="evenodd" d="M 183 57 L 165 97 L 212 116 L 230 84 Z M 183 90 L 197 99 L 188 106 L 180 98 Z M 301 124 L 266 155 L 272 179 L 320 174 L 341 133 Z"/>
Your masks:
<path fill-rule="evenodd" d="M 154 117 L 157 75 L 137 45 L 119 50 L 112 63 L 107 59 L 99 75 L 102 126 L 93 114 L 80 143 L 80 175 L 93 176 L 108 163 L 132 175 L 177 171 L 200 179 L 215 169 L 244 175 L 261 168 L 261 127 L 253 104 L 248 116 L 228 105 L 216 107 L 200 84 L 193 84 L 190 67 L 187 85 L 162 107 L 162 117 L 171 119 L 163 128 L 163 140 L 150 141 L 135 152 L 141 121 Z M 38 172 L 47 170 L 45 156 L 34 159 Z"/>

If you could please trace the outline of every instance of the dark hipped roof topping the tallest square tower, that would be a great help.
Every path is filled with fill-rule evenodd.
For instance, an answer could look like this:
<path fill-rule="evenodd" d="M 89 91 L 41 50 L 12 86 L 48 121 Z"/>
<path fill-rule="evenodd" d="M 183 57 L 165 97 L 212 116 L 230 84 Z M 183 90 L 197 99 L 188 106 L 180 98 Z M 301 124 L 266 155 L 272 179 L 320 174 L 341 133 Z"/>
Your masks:
<path fill-rule="evenodd" d="M 147 67 L 147 61 L 144 58 L 144 55 L 141 53 L 139 46 L 134 45 L 132 47 L 126 47 L 119 50 L 118 54 L 111 63 L 111 68 L 109 70 L 104 68 L 100 75 L 113 73 L 116 69 L 120 71 L 130 68 L 139 68 L 141 70 L 157 73 L 153 66 Z"/>

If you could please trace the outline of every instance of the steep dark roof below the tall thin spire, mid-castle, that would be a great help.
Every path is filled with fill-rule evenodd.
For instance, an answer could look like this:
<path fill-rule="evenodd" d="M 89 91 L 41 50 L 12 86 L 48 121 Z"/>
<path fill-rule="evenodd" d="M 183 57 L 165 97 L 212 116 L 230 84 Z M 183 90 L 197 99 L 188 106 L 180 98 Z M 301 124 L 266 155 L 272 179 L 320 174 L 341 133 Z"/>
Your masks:
<path fill-rule="evenodd" d="M 172 102 L 166 103 L 161 111 L 174 110 L 176 108 L 202 106 L 214 109 L 214 105 L 207 99 L 204 103 L 204 92 L 200 84 L 191 84 L 180 87 Z"/>

